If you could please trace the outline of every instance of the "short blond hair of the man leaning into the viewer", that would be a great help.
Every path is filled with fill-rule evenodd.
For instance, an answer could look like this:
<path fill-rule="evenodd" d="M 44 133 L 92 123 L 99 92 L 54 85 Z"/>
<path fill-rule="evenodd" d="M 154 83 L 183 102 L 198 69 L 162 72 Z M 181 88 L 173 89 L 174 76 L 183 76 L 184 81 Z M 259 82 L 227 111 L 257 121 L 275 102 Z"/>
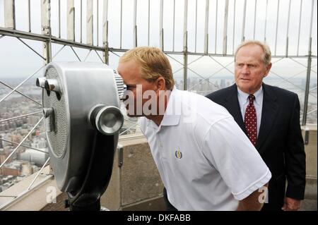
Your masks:
<path fill-rule="evenodd" d="M 160 77 L 165 79 L 165 87 L 172 90 L 175 80 L 167 56 L 155 47 L 136 47 L 127 51 L 119 59 L 119 63 L 135 60 L 141 66 L 141 77 L 148 82 L 153 82 Z"/>

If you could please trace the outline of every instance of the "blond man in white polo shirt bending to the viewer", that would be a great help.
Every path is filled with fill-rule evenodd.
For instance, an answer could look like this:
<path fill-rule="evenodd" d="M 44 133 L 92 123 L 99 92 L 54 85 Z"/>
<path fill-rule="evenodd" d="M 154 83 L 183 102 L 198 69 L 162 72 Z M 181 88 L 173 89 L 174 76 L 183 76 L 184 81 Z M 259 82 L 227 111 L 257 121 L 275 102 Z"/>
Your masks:
<path fill-rule="evenodd" d="M 143 116 L 141 130 L 176 209 L 261 209 L 271 172 L 224 107 L 177 90 L 158 48 L 127 51 L 118 72 L 128 115 Z"/>

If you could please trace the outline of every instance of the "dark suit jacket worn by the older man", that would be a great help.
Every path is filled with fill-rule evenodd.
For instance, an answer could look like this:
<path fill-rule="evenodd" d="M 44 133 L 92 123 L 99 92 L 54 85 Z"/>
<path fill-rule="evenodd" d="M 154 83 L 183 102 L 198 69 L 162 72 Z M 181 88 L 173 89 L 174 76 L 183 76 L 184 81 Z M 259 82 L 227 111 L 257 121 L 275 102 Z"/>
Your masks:
<path fill-rule="evenodd" d="M 269 181 L 269 203 L 263 209 L 280 210 L 285 196 L 302 200 L 305 193 L 306 166 L 300 130 L 300 103 L 295 93 L 264 83 L 263 93 L 261 126 L 255 147 L 272 174 Z M 228 109 L 240 128 L 247 133 L 236 85 L 206 97 Z"/>

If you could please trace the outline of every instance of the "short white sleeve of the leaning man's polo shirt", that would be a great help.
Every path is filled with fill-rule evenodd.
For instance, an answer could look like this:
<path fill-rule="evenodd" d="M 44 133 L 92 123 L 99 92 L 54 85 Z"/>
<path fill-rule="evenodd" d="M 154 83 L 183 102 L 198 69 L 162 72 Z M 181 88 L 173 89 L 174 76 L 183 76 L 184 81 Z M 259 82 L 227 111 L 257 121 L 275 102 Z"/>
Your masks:
<path fill-rule="evenodd" d="M 233 118 L 213 123 L 204 136 L 202 150 L 237 200 L 271 179 L 269 168 Z"/>

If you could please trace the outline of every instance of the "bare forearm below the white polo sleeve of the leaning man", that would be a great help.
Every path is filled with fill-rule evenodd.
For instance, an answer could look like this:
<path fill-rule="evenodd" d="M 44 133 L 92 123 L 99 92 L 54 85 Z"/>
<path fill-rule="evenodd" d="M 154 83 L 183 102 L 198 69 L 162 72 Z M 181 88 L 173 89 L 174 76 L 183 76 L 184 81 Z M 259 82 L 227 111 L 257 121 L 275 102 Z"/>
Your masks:
<path fill-rule="evenodd" d="M 265 187 L 267 188 L 268 184 L 266 183 Z M 259 195 L 264 195 L 259 192 L 259 189 L 255 190 L 252 194 L 245 197 L 245 199 L 240 200 L 239 205 L 237 206 L 237 211 L 259 211 L 263 207 L 263 203 L 259 200 Z"/>

